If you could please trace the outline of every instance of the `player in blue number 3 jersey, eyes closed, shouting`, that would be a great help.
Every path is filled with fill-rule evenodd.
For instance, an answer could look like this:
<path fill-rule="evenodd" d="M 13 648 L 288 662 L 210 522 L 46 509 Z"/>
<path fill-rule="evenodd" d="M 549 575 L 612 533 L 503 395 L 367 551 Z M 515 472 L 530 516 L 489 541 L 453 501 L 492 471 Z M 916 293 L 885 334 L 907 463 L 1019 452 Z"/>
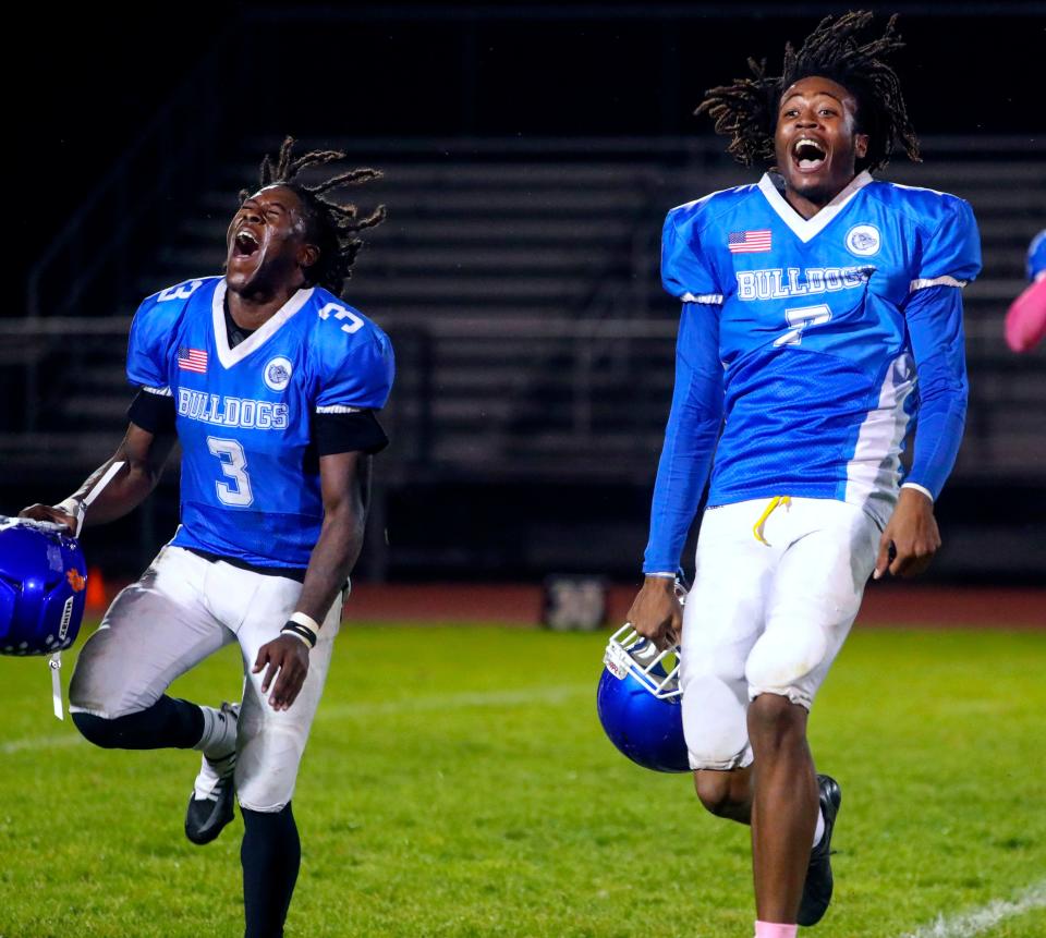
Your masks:
<path fill-rule="evenodd" d="M 247 938 L 279 936 L 301 846 L 291 796 L 330 663 L 348 578 L 363 543 L 372 454 L 387 444 L 375 412 L 389 395 L 386 334 L 340 299 L 384 218 L 325 195 L 379 175 L 300 172 L 344 157 L 297 158 L 288 138 L 262 185 L 241 193 L 224 277 L 148 297 L 131 327 L 138 388 L 115 455 L 58 505 L 23 514 L 100 524 L 153 490 L 175 438 L 181 524 L 106 612 L 70 684 L 70 710 L 99 746 L 203 753 L 185 833 L 214 840 L 244 820 Z M 122 463 L 95 500 L 84 496 Z M 166 694 L 179 674 L 236 642 L 243 701 L 221 708 Z"/>

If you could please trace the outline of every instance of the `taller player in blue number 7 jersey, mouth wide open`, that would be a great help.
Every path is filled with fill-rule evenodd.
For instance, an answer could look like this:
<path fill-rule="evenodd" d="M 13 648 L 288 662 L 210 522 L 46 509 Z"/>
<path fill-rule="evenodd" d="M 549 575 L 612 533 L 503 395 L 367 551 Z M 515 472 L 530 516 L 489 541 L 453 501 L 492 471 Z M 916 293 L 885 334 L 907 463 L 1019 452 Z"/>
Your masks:
<path fill-rule="evenodd" d="M 872 176 L 898 145 L 919 149 L 893 20 L 865 39 L 871 19 L 827 17 L 781 75 L 752 61 L 707 93 L 698 113 L 729 151 L 771 169 L 672 209 L 662 236 L 683 308 L 629 620 L 681 642 L 697 795 L 752 826 L 758 938 L 793 938 L 828 906 L 841 794 L 815 772 L 807 714 L 868 577 L 919 573 L 939 547 L 934 500 L 966 406 L 976 224 L 959 198 Z M 709 474 L 681 611 L 673 574 Z"/>

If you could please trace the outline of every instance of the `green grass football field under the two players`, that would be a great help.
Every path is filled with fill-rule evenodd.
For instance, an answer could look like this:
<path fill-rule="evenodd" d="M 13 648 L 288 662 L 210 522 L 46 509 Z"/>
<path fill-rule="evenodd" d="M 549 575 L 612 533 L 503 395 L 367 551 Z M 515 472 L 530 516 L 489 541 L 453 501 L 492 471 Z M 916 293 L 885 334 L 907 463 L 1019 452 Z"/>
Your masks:
<path fill-rule="evenodd" d="M 604 641 L 345 628 L 294 799 L 288 936 L 750 938 L 747 830 L 605 740 Z M 226 649 L 174 693 L 233 699 L 238 667 Z M 1044 675 L 1046 632 L 852 636 L 812 717 L 844 800 L 810 934 L 1046 935 Z M 80 741 L 42 659 L 0 659 L 0 936 L 242 934 L 239 818 L 207 848 L 182 835 L 196 754 Z M 963 930 L 993 901 L 1023 911 Z"/>

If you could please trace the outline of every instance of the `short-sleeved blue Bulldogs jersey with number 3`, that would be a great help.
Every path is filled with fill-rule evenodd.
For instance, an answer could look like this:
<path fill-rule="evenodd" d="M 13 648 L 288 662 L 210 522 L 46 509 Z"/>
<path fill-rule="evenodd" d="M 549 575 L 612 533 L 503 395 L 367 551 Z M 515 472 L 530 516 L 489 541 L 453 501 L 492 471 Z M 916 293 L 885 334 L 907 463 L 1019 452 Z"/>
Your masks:
<path fill-rule="evenodd" d="M 307 567 L 324 517 L 311 425 L 385 405 L 388 337 L 332 293 L 300 290 L 234 348 L 226 281 L 191 280 L 135 314 L 127 380 L 170 394 L 182 446 L 171 541 L 256 567 Z"/>

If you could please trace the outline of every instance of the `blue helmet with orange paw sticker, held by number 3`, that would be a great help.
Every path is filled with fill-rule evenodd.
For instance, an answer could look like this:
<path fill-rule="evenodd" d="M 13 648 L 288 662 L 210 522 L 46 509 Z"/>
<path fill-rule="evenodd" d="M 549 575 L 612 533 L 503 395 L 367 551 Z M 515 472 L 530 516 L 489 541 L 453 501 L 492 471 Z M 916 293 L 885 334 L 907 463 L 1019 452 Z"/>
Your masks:
<path fill-rule="evenodd" d="M 0 515 L 0 654 L 69 648 L 86 586 L 84 552 L 65 525 Z"/>

